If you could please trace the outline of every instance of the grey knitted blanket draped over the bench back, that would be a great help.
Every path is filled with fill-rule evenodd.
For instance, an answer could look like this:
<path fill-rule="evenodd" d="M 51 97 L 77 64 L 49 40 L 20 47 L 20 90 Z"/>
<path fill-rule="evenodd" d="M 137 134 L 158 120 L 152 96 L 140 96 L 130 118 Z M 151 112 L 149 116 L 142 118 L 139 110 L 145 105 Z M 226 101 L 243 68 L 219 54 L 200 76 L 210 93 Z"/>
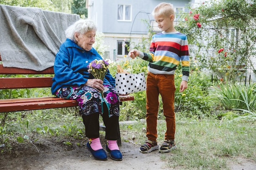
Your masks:
<path fill-rule="evenodd" d="M 42 71 L 54 65 L 65 29 L 79 15 L 0 5 L 0 54 L 4 67 Z"/>

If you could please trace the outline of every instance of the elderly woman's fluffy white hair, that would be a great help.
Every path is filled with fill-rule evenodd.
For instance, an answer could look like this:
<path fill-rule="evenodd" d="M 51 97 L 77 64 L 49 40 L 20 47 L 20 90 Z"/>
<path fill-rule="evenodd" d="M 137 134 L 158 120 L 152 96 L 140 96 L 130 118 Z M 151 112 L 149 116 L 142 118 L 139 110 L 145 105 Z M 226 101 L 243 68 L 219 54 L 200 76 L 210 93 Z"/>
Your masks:
<path fill-rule="evenodd" d="M 66 38 L 69 38 L 70 40 L 75 41 L 75 32 L 84 34 L 87 31 L 97 31 L 97 26 L 92 22 L 92 20 L 78 20 L 74 24 L 70 25 L 66 31 L 65 35 Z"/>

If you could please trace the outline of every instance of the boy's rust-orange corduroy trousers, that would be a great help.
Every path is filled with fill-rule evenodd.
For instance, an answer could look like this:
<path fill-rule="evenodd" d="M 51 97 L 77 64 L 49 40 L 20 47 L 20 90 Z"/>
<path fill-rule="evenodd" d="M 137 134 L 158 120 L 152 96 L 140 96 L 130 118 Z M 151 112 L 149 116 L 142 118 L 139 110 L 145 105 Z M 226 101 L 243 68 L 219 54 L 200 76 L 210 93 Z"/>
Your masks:
<path fill-rule="evenodd" d="M 174 140 L 175 136 L 175 96 L 174 75 L 159 75 L 148 72 L 146 80 L 146 137 L 157 139 L 157 113 L 159 109 L 159 94 L 162 96 L 163 112 L 166 121 L 164 139 Z"/>

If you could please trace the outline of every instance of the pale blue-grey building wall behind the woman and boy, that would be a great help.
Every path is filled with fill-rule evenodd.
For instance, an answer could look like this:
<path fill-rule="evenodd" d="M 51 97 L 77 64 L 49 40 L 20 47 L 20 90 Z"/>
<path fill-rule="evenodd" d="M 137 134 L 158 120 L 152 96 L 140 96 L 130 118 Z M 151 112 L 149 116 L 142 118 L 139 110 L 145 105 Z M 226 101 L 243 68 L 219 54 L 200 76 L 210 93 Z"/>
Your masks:
<path fill-rule="evenodd" d="M 139 40 L 141 40 L 142 37 L 147 36 L 146 31 L 144 34 L 138 31 L 139 27 L 140 29 L 146 27 L 141 21 L 141 18 L 148 19 L 148 17 L 145 17 L 146 15 L 149 16 L 150 21 L 153 20 L 151 16 L 151 12 L 153 10 L 153 7 L 155 7 L 156 4 L 160 2 L 170 2 L 174 4 L 175 7 L 182 7 L 182 5 L 189 4 L 191 7 L 195 8 L 199 6 L 200 4 L 207 3 L 207 1 L 210 0 L 86 0 L 88 5 L 88 18 L 92 19 L 96 22 L 98 26 L 98 31 L 102 31 L 105 35 L 104 42 L 107 46 L 105 56 L 103 56 L 105 59 L 110 59 L 115 62 L 118 62 L 120 60 L 124 60 L 123 55 L 117 55 L 117 41 L 118 40 L 127 40 L 131 43 L 139 43 Z M 112 3 L 111 3 L 112 2 Z M 147 4 L 148 5 L 137 5 L 140 4 Z M 112 5 L 112 4 L 115 5 Z M 116 14 L 117 14 L 117 4 L 131 4 L 132 5 L 132 22 L 117 22 Z M 137 18 L 135 18 L 135 15 L 139 13 L 138 11 L 146 11 L 147 14 L 142 13 L 138 15 Z M 106 16 L 108 16 L 106 18 Z M 141 18 L 140 18 L 141 17 Z M 136 20 L 135 20 L 136 19 Z M 134 22 L 133 24 L 133 21 Z M 132 27 L 133 25 L 133 27 Z M 119 32 L 119 33 L 118 33 Z M 120 33 L 122 32 L 122 33 Z M 131 39 L 130 39 L 131 38 Z M 132 44 L 130 44 L 130 48 L 132 49 Z M 149 47 L 148 47 L 149 48 Z M 115 54 L 114 54 L 115 50 Z M 209 51 L 208 51 L 209 52 Z M 192 55 L 192 53 L 191 53 Z M 252 59 L 255 63 L 256 68 L 256 58 Z M 249 78 L 249 75 L 250 78 Z M 256 82 L 256 75 L 253 73 L 252 70 L 247 70 L 247 79 L 250 81 Z M 248 81 L 247 81 L 248 82 Z"/>

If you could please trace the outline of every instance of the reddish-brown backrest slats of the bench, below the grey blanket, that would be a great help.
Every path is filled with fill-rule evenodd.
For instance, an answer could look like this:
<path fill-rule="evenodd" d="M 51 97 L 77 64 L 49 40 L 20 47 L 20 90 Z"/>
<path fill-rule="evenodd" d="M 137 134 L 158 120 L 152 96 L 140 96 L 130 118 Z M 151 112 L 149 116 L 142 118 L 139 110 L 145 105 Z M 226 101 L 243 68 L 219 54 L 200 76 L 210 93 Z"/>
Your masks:
<path fill-rule="evenodd" d="M 0 61 L 1 55 L 0 55 Z M 0 64 L 0 75 L 42 75 L 54 74 L 53 67 L 43 71 L 34 71 L 24 68 L 4 67 Z M 51 77 L 0 77 L 0 89 L 15 89 L 15 88 L 43 88 L 52 86 Z"/>

